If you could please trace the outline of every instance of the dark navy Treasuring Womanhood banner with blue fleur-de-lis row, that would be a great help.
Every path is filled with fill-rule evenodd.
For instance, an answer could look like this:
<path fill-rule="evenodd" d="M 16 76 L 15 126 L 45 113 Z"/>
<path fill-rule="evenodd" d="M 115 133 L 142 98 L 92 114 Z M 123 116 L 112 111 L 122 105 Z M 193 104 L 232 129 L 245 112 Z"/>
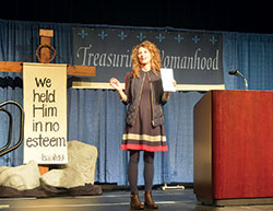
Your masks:
<path fill-rule="evenodd" d="M 131 71 L 131 50 L 143 40 L 161 50 L 163 68 L 174 69 L 177 90 L 223 90 L 222 35 L 122 28 L 73 28 L 74 65 L 96 67 L 96 77 L 78 78 L 74 87 L 110 89 L 115 77 L 120 82 Z"/>

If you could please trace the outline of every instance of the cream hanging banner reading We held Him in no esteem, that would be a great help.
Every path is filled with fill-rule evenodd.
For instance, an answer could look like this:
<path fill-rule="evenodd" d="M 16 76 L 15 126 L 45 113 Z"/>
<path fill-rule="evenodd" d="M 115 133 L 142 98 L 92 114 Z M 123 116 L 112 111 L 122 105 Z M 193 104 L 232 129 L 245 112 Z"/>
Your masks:
<path fill-rule="evenodd" d="M 23 63 L 24 163 L 68 163 L 67 65 Z"/>

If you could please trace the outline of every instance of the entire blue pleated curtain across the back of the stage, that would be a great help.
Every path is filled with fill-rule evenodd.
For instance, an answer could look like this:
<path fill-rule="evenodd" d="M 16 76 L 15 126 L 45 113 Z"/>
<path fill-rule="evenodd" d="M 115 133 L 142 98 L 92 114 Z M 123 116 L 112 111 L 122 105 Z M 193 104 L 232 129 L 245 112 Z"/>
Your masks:
<path fill-rule="evenodd" d="M 74 25 L 0 20 L 0 60 L 25 61 L 29 58 L 27 61 L 37 62 L 33 54 L 39 45 L 38 31 L 50 28 L 55 33 L 52 45 L 58 52 L 55 62 L 72 65 Z M 228 74 L 229 70 L 239 70 L 248 79 L 250 90 L 273 90 L 273 35 L 228 32 L 221 34 L 226 89 L 245 89 L 241 78 Z M 169 151 L 156 153 L 155 184 L 193 181 L 193 106 L 204 94 L 176 92 L 164 106 Z M 8 99 L 23 104 L 21 73 L 0 73 L 0 103 Z M 14 117 L 19 116 L 16 108 L 10 109 Z M 120 150 L 126 109 L 115 91 L 68 89 L 68 139 L 97 148 L 95 181 L 128 185 L 128 153 Z M 19 120 L 14 121 L 13 142 L 19 137 L 15 131 Z M 0 146 L 7 140 L 8 124 L 5 115 L 0 113 Z M 0 157 L 0 166 L 17 166 L 22 163 L 22 146 Z M 141 159 L 140 184 L 143 184 L 142 172 Z"/>

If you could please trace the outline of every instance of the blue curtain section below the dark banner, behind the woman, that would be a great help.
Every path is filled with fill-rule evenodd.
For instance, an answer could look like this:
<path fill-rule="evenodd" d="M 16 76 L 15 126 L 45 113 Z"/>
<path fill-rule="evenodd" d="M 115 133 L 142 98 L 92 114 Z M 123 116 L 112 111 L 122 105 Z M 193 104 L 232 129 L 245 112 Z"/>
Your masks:
<path fill-rule="evenodd" d="M 192 183 L 193 105 L 199 92 L 176 92 L 164 106 L 168 152 L 155 153 L 155 184 Z M 126 106 L 115 91 L 69 90 L 69 138 L 97 146 L 96 180 L 126 185 L 128 153 L 120 150 Z M 141 154 L 142 155 L 142 154 Z M 139 181 L 143 184 L 143 160 Z"/>

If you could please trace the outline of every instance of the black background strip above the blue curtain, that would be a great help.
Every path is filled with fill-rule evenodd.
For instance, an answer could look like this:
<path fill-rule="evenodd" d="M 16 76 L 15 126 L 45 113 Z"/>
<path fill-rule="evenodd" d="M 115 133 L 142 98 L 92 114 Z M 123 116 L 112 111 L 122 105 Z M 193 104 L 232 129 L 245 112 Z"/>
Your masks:
<path fill-rule="evenodd" d="M 271 1 L 8 0 L 0 19 L 273 33 Z"/>

